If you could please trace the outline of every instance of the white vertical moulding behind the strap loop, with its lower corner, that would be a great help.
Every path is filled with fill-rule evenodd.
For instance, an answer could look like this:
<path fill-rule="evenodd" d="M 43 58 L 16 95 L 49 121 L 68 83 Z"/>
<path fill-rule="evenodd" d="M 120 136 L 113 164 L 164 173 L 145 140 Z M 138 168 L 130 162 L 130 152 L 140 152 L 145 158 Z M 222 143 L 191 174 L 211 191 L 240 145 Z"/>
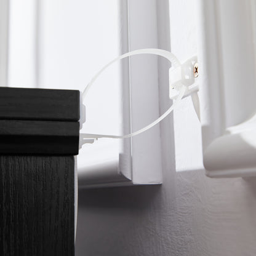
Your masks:
<path fill-rule="evenodd" d="M 158 48 L 156 1 L 121 1 L 120 12 L 120 54 Z M 158 58 L 142 55 L 124 60 L 121 84 L 121 132 L 129 134 L 159 117 Z M 116 158 L 95 161 L 90 166 L 79 162 L 78 183 L 79 188 L 162 183 L 159 125 L 136 137 L 120 140 Z"/>

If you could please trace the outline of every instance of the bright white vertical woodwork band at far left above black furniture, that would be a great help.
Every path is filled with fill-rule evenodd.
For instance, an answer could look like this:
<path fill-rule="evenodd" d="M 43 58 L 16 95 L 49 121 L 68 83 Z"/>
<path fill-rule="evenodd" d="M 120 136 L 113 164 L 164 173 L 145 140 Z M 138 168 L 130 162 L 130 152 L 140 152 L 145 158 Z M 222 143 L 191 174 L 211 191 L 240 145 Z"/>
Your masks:
<path fill-rule="evenodd" d="M 8 84 L 38 87 L 38 2 L 9 0 Z"/>

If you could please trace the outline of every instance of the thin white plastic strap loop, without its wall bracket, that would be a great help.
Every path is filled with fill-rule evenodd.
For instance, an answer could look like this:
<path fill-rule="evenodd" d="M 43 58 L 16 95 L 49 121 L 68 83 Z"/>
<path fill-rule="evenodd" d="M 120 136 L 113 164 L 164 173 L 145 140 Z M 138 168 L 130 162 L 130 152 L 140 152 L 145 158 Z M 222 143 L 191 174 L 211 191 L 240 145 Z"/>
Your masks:
<path fill-rule="evenodd" d="M 114 62 L 116 62 L 118 60 L 121 60 L 122 58 L 126 58 L 126 57 L 129 57 L 129 56 L 132 56 L 132 55 L 137 55 L 137 54 L 159 55 L 159 56 L 162 56 L 164 58 L 167 58 L 167 60 L 169 60 L 169 62 L 171 62 L 172 65 L 175 68 L 178 67 L 178 66 L 181 66 L 181 63 L 178 61 L 177 57 L 175 57 L 174 54 L 172 54 L 171 52 L 168 52 L 167 50 L 161 50 L 161 49 L 133 50 L 132 52 L 128 52 L 127 54 L 123 54 L 123 55 L 115 58 L 110 63 L 103 66 L 103 68 L 97 74 L 95 74 L 94 78 L 92 78 L 92 80 L 89 82 L 89 84 L 87 85 L 84 92 L 82 92 L 82 99 L 84 100 L 84 98 L 86 97 L 87 92 L 90 89 L 90 87 L 92 86 L 92 84 L 95 82 L 95 80 L 98 78 L 98 76 L 100 76 L 100 74 L 104 70 L 106 70 L 106 68 L 108 68 L 108 66 L 110 66 L 111 64 L 113 64 Z M 140 130 L 137 130 L 136 132 L 132 132 L 131 134 L 127 134 L 127 135 L 80 134 L 81 145 L 84 144 L 84 143 L 87 143 L 87 141 L 89 143 L 92 143 L 92 139 L 97 139 L 97 138 L 130 138 L 130 137 L 134 137 L 135 135 L 141 134 L 142 132 L 145 132 L 146 130 L 150 129 L 151 127 L 155 126 L 160 121 L 162 121 L 162 119 L 166 118 L 166 116 L 174 110 L 177 103 L 180 102 L 180 100 L 182 100 L 183 96 L 186 93 L 186 90 L 187 90 L 186 86 L 182 86 L 181 88 L 179 87 L 178 88 L 179 94 L 178 94 L 178 97 L 175 100 L 175 103 L 172 106 L 170 106 L 169 110 L 167 110 L 164 114 L 162 114 L 162 116 L 160 116 L 158 119 L 156 119 L 156 121 L 152 122 L 148 126 L 142 128 Z"/>

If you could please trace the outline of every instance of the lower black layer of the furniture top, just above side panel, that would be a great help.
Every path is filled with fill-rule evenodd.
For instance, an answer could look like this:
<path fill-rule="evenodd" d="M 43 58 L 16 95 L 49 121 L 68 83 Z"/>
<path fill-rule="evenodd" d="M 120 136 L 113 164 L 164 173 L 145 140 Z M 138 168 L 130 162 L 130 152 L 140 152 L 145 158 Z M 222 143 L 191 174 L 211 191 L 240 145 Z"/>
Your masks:
<path fill-rule="evenodd" d="M 0 154 L 76 155 L 79 122 L 0 120 Z"/>

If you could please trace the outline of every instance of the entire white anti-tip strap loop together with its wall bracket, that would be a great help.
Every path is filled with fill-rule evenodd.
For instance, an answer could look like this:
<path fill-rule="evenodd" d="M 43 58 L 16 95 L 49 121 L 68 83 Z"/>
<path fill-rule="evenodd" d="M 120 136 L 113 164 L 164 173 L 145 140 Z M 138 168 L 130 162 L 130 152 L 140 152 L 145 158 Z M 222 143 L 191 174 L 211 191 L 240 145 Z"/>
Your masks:
<path fill-rule="evenodd" d="M 80 134 L 79 137 L 79 147 L 85 143 L 94 143 L 94 140 L 97 140 L 98 138 L 130 138 L 134 137 L 135 135 L 141 134 L 142 132 L 145 132 L 146 130 L 150 129 L 151 127 L 158 124 L 162 119 L 166 118 L 168 114 L 170 114 L 175 106 L 182 100 L 183 97 L 187 97 L 191 95 L 194 108 L 196 110 L 196 113 L 198 114 L 198 118 L 200 115 L 199 110 L 199 98 L 198 98 L 198 90 L 199 86 L 194 85 L 195 78 L 197 76 L 194 76 L 194 65 L 197 62 L 197 57 L 190 58 L 185 63 L 181 64 L 177 57 L 175 57 L 174 54 L 167 50 L 162 49 L 140 49 L 140 50 L 134 50 L 132 52 L 127 52 L 127 54 L 123 54 L 114 60 L 112 60 L 107 65 L 103 66 L 103 68 L 95 74 L 95 76 L 92 78 L 92 80 L 87 85 L 86 89 L 82 93 L 82 98 L 84 98 L 87 95 L 88 90 L 94 83 L 94 81 L 100 76 L 100 74 L 108 68 L 111 64 L 114 62 L 121 60 L 122 58 L 126 58 L 132 55 L 138 55 L 138 54 L 153 54 L 153 55 L 159 55 L 161 57 L 167 58 L 169 62 L 172 63 L 173 67 L 169 70 L 169 81 L 170 81 L 170 98 L 174 100 L 174 104 L 170 106 L 170 108 L 162 114 L 156 121 L 152 122 L 146 127 L 143 127 L 140 130 L 137 130 L 136 132 L 132 132 L 127 135 L 104 135 L 104 134 Z"/>

